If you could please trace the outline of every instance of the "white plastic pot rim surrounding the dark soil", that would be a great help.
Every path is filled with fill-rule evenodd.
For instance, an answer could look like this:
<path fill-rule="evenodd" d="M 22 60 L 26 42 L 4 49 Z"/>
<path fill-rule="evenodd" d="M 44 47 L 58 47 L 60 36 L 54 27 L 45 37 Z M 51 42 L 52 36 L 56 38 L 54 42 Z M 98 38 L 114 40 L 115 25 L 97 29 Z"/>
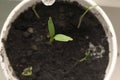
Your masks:
<path fill-rule="evenodd" d="M 67 1 L 71 1 L 71 2 L 77 1 L 79 4 L 84 5 L 84 6 L 96 5 L 96 3 L 93 2 L 92 0 L 67 0 Z M 0 65 L 2 66 L 3 73 L 5 74 L 5 77 L 7 80 L 18 80 L 18 78 L 15 76 L 14 71 L 12 67 L 10 66 L 10 63 L 9 63 L 9 60 L 8 60 L 8 57 L 6 55 L 6 51 L 4 48 L 3 40 L 7 39 L 9 29 L 11 28 L 11 23 L 17 18 L 17 16 L 20 15 L 20 13 L 26 10 L 28 7 L 32 6 L 33 4 L 36 4 L 37 2 L 41 2 L 41 0 L 23 0 L 19 5 L 17 5 L 12 10 L 12 12 L 8 16 L 3 26 L 3 29 L 0 35 Z M 113 26 L 109 18 L 99 6 L 94 8 L 91 12 L 94 13 L 95 16 L 98 18 L 98 20 L 101 22 L 106 32 L 106 35 L 108 37 L 109 51 L 110 51 L 109 64 L 106 69 L 104 80 L 110 80 L 110 77 L 115 67 L 116 58 L 117 58 L 116 35 L 115 35 Z"/>

